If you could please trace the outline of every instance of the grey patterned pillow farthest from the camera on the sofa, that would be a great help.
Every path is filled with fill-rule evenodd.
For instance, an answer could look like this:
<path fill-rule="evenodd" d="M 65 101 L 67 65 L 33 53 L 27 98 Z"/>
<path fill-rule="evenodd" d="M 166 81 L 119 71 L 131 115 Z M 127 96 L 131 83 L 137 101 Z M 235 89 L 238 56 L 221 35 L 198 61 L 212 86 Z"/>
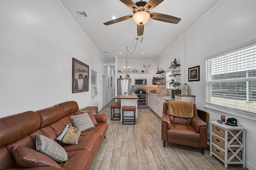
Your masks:
<path fill-rule="evenodd" d="M 80 115 L 74 115 L 69 117 L 74 125 L 75 128 L 80 130 L 81 132 L 84 132 L 86 130 L 89 130 L 91 128 L 95 128 L 94 124 L 92 123 L 92 120 L 88 113 L 83 113 Z"/>

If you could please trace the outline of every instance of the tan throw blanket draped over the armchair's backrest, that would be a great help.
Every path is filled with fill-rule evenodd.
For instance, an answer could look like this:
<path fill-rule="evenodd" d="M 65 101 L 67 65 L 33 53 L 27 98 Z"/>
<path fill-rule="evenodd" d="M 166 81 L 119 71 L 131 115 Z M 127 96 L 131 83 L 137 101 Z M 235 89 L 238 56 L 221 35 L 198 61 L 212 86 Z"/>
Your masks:
<path fill-rule="evenodd" d="M 177 117 L 193 117 L 194 107 L 192 102 L 186 101 L 169 101 L 169 114 Z"/>

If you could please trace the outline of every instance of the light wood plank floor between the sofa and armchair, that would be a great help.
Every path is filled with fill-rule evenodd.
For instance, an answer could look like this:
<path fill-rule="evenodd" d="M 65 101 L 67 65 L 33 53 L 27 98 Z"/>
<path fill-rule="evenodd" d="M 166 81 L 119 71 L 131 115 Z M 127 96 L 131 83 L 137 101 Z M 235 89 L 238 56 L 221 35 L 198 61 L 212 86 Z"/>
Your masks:
<path fill-rule="evenodd" d="M 108 131 L 90 170 L 226 170 L 224 163 L 199 148 L 161 140 L 161 119 L 151 109 L 138 109 L 136 125 L 110 120 L 110 101 L 98 114 L 107 114 Z M 228 165 L 230 170 L 245 170 Z"/>

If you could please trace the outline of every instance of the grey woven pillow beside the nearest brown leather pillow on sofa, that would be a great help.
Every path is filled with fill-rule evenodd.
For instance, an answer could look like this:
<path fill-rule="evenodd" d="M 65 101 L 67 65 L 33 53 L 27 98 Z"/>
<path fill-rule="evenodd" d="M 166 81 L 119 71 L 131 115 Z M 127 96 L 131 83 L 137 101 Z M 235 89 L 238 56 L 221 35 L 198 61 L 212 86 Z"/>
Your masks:
<path fill-rule="evenodd" d="M 49 156 L 56 162 L 66 162 L 68 160 L 67 152 L 62 146 L 54 140 L 40 134 L 36 135 L 36 150 Z"/>

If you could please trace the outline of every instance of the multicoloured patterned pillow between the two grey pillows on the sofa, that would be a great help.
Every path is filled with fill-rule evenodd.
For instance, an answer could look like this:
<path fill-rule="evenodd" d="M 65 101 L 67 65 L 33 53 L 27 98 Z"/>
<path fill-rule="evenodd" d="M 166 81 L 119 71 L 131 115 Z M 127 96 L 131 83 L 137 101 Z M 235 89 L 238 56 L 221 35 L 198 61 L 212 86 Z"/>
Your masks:
<path fill-rule="evenodd" d="M 77 144 L 81 132 L 71 125 L 67 124 L 57 140 L 65 144 Z"/>

